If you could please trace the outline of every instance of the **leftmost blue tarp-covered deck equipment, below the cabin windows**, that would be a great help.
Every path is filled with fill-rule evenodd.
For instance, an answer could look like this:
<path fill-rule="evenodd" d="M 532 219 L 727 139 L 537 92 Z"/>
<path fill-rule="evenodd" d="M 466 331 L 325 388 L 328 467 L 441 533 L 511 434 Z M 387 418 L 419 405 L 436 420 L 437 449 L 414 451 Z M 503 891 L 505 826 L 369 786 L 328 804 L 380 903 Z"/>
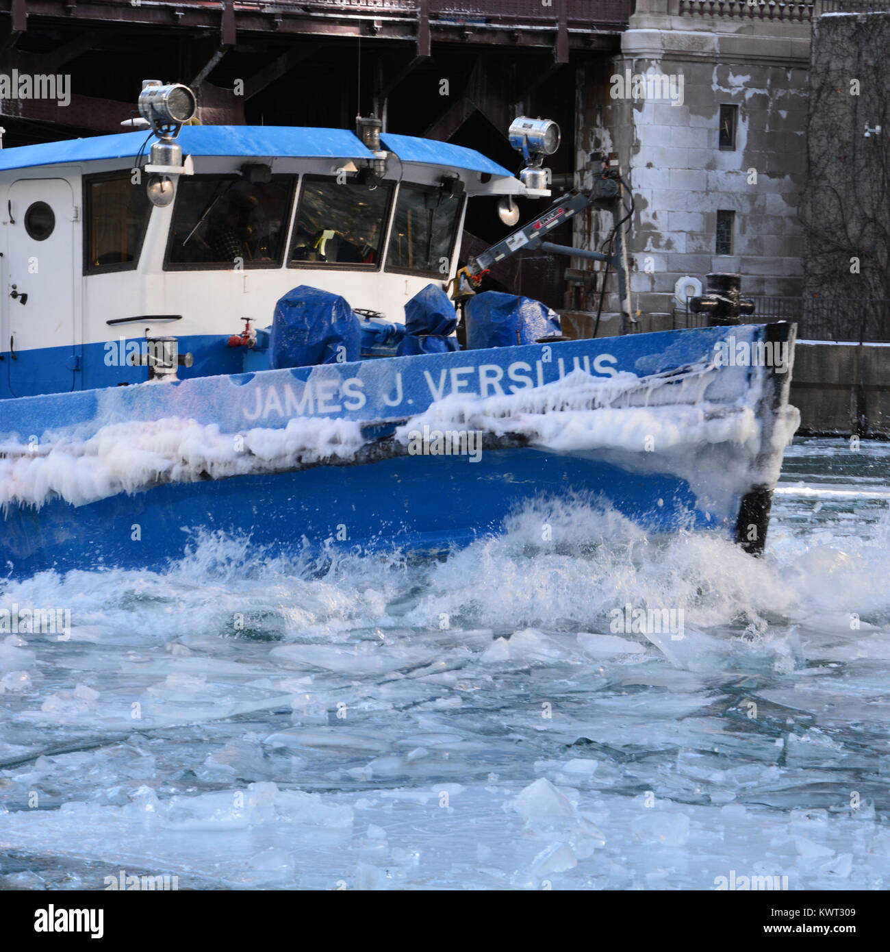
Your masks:
<path fill-rule="evenodd" d="M 269 338 L 273 370 L 359 360 L 361 352 L 361 323 L 339 295 L 300 285 L 275 305 Z"/>

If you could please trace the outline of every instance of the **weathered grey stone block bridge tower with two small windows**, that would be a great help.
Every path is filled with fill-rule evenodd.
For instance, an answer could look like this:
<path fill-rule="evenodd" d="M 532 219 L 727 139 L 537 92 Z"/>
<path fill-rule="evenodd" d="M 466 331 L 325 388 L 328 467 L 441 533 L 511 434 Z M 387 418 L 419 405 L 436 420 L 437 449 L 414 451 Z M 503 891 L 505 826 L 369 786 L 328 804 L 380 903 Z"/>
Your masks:
<path fill-rule="evenodd" d="M 631 306 L 670 310 L 678 278 L 708 271 L 742 272 L 750 294 L 798 295 L 809 24 L 679 16 L 675 3 L 638 0 L 621 55 L 579 68 L 580 178 L 589 183 L 591 150 L 617 151 L 636 200 Z M 628 70 L 674 85 L 634 98 L 610 82 Z M 739 108 L 734 150 L 719 145 L 723 104 Z M 731 255 L 716 253 L 718 209 L 735 212 Z M 576 240 L 599 246 L 607 231 L 591 214 Z"/>

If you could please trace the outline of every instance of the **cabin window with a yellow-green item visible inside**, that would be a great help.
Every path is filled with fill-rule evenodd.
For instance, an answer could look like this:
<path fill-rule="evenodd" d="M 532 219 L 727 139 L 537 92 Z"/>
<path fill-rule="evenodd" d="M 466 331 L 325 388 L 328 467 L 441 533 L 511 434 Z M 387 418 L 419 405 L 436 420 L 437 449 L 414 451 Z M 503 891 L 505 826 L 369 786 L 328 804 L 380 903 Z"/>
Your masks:
<path fill-rule="evenodd" d="M 354 177 L 338 183 L 304 175 L 290 265 L 379 268 L 392 191 L 387 184 L 368 188 Z"/>

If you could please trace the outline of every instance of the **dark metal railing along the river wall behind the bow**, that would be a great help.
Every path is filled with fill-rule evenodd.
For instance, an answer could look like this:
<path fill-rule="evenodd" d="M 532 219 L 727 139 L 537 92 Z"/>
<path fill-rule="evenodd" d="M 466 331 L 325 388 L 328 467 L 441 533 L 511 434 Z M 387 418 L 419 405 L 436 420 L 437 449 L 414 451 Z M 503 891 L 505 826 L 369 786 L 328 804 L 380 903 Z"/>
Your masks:
<path fill-rule="evenodd" d="M 754 324 L 795 321 L 798 337 L 810 341 L 849 341 L 854 344 L 890 343 L 890 298 L 803 298 L 745 295 L 754 301 L 754 314 L 743 318 Z M 706 314 L 675 308 L 674 327 L 704 327 Z"/>

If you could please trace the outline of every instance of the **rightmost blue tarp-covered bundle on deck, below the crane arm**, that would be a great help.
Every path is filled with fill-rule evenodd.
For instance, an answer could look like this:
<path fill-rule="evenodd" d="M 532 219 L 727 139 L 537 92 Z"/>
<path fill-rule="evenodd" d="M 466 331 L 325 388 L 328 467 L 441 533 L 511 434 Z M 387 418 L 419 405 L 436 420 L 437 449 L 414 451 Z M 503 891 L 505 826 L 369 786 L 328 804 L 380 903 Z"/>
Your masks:
<path fill-rule="evenodd" d="M 555 311 L 532 298 L 484 291 L 466 303 L 466 349 L 516 347 L 561 334 Z"/>

